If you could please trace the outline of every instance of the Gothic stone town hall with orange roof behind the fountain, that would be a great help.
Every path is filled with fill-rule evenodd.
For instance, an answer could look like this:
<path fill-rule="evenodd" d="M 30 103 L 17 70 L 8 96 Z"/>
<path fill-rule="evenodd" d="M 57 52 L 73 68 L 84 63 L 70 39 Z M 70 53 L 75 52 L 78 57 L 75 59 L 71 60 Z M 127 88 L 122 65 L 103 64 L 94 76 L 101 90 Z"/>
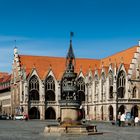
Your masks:
<path fill-rule="evenodd" d="M 42 120 L 60 117 L 65 64 L 66 58 L 20 55 L 14 48 L 12 113 Z M 140 117 L 140 46 L 100 60 L 76 58 L 75 72 L 83 117 L 115 120 L 118 112 Z"/>

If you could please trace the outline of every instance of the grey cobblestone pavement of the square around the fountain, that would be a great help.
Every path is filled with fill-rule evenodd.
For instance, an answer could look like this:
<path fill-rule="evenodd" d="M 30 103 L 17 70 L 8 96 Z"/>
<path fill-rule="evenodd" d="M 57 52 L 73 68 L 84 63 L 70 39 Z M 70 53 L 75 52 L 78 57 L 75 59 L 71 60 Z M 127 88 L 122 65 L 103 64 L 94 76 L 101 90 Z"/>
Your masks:
<path fill-rule="evenodd" d="M 117 127 L 110 123 L 97 123 L 103 135 L 44 136 L 46 121 L 0 120 L 0 140 L 140 140 L 139 127 Z"/>

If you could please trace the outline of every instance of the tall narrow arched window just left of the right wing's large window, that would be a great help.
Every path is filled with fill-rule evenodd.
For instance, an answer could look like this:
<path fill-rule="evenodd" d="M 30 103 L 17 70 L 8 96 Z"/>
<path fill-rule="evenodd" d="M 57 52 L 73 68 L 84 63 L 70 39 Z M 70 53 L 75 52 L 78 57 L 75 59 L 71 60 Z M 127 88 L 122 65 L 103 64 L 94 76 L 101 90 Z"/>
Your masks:
<path fill-rule="evenodd" d="M 113 73 L 109 72 L 109 98 L 113 98 Z"/>

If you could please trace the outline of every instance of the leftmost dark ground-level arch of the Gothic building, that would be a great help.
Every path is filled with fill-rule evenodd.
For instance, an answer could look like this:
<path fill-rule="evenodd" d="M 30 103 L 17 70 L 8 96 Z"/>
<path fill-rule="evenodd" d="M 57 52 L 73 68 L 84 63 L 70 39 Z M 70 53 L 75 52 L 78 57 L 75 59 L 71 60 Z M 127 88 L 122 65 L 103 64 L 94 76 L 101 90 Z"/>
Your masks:
<path fill-rule="evenodd" d="M 37 107 L 32 107 L 29 110 L 29 118 L 30 119 L 40 119 L 40 112 Z"/>

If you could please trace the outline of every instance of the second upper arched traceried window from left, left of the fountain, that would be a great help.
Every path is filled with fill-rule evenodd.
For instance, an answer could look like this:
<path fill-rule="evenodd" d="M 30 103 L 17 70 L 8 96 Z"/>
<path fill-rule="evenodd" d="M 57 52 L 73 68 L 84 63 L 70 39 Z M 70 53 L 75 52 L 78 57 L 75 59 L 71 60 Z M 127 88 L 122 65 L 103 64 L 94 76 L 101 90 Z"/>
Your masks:
<path fill-rule="evenodd" d="M 52 76 L 45 81 L 45 101 L 55 101 L 55 81 Z"/>

